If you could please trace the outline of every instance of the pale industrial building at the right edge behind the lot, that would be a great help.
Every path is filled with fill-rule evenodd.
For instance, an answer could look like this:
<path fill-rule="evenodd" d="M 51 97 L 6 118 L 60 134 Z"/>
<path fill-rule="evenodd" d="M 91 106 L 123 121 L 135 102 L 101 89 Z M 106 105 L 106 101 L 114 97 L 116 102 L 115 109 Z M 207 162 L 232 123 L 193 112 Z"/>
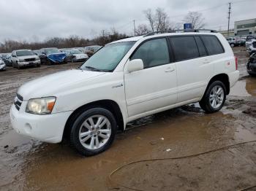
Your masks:
<path fill-rule="evenodd" d="M 235 21 L 235 36 L 256 34 L 256 18 Z"/>

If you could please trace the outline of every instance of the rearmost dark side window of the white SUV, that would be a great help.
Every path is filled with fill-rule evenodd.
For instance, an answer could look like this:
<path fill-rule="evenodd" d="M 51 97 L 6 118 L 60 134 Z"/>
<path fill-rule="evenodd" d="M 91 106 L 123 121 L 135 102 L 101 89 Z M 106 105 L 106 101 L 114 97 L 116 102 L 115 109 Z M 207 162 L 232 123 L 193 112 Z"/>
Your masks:
<path fill-rule="evenodd" d="M 209 55 L 217 55 L 224 53 L 222 44 L 220 44 L 219 39 L 216 36 L 201 36 L 203 44 L 205 44 Z"/>

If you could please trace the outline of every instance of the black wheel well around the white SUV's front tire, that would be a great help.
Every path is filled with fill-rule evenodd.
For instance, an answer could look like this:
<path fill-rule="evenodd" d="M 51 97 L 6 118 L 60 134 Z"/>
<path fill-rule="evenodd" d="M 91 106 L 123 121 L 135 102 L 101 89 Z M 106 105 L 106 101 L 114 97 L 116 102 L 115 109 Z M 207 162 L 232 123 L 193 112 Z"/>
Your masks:
<path fill-rule="evenodd" d="M 86 109 L 91 109 L 94 107 L 102 107 L 108 109 L 113 115 L 116 117 L 116 122 L 118 125 L 118 129 L 124 130 L 124 120 L 123 115 L 121 114 L 121 109 L 119 108 L 118 104 L 112 100 L 101 100 L 101 101 L 94 101 L 89 104 L 85 104 L 80 106 L 78 109 L 75 109 L 74 112 L 69 116 L 66 125 L 64 127 L 63 138 L 69 139 L 70 130 L 72 128 L 72 124 L 75 122 L 75 119 L 83 113 Z"/>

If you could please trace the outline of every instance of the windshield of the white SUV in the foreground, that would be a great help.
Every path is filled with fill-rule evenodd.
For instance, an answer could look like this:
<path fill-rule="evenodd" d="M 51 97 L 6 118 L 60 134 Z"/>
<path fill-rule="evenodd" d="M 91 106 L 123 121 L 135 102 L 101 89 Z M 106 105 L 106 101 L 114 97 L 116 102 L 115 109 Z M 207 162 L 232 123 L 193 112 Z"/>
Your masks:
<path fill-rule="evenodd" d="M 94 71 L 113 71 L 135 42 L 107 44 L 91 56 L 80 69 Z"/>

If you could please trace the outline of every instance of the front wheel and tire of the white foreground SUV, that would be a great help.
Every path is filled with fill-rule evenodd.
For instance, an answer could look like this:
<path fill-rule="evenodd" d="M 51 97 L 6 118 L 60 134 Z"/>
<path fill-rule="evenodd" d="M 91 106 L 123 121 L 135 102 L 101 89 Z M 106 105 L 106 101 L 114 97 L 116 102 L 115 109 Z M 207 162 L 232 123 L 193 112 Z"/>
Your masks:
<path fill-rule="evenodd" d="M 97 155 L 110 147 L 116 130 L 116 119 L 108 109 L 88 109 L 72 125 L 70 142 L 81 155 Z"/>

